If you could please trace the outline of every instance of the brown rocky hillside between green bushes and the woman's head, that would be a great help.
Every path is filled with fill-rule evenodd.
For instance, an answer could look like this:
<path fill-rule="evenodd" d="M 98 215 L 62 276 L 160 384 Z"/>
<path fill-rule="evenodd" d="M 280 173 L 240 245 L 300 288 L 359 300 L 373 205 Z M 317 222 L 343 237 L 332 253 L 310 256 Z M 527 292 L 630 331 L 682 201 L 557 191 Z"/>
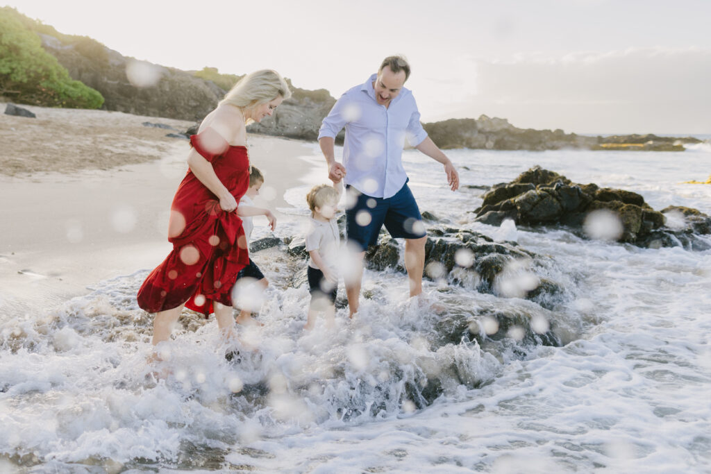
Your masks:
<path fill-rule="evenodd" d="M 67 45 L 53 36 L 40 37 L 43 48 L 57 58 L 70 77 L 104 96 L 102 109 L 201 120 L 225 93 L 213 82 L 189 72 L 127 58 L 97 42 Z"/>

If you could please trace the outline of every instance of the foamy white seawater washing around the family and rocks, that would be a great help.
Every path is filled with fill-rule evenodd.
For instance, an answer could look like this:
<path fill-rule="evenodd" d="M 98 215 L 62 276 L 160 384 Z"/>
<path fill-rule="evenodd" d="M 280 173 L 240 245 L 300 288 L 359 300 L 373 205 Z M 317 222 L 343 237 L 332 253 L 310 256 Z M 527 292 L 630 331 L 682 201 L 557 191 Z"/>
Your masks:
<path fill-rule="evenodd" d="M 448 155 L 456 193 L 439 163 L 405 152 L 421 210 L 538 254 L 538 275 L 565 289 L 552 306 L 443 279 L 414 301 L 405 275 L 365 271 L 358 318 L 341 309 L 335 330 L 304 335 L 309 293 L 292 286 L 304 262 L 266 250 L 264 326 L 241 330 L 240 362 L 213 321 L 186 315 L 156 381 L 152 319 L 135 301 L 149 269 L 137 269 L 51 311 L 0 315 L 0 471 L 709 472 L 711 252 L 491 227 L 471 212 L 483 188 L 538 164 L 711 214 L 711 186 L 681 184 L 711 173 L 707 144 Z M 322 172 L 287 192 L 280 237 L 304 232 L 306 190 L 326 178 L 317 147 L 306 158 Z M 479 345 L 470 335 L 493 311 L 545 318 L 562 347 Z"/>

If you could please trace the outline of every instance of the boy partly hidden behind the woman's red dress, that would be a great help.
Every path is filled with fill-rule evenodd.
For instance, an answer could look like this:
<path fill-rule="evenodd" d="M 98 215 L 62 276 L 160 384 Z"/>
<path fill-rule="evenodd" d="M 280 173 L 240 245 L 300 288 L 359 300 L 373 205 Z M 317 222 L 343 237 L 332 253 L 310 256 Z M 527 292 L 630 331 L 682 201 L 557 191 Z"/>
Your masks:
<path fill-rule="evenodd" d="M 269 227 L 274 230 L 274 226 L 277 225 L 277 220 L 272 214 L 272 211 L 264 208 L 257 208 L 252 201 L 260 193 L 260 188 L 264 184 L 264 176 L 262 172 L 255 168 L 255 166 L 250 166 L 250 188 L 247 189 L 247 193 L 240 199 L 240 204 L 237 207 L 237 215 L 242 217 L 242 227 L 245 229 L 245 237 L 247 238 L 247 248 L 250 248 L 250 236 L 252 235 L 252 230 L 255 225 L 252 223 L 252 216 L 264 215 L 269 220 Z M 269 285 L 269 281 L 264 278 L 264 274 L 260 268 L 252 261 L 250 258 L 250 264 L 245 266 L 240 273 L 237 274 L 237 281 L 245 276 L 256 279 L 257 282 L 254 287 L 254 291 L 259 291 L 262 293 L 264 289 Z M 256 298 L 259 301 L 261 298 Z M 252 324 L 256 321 L 252 318 L 251 308 L 241 308 L 239 316 L 237 316 L 238 324 Z"/>

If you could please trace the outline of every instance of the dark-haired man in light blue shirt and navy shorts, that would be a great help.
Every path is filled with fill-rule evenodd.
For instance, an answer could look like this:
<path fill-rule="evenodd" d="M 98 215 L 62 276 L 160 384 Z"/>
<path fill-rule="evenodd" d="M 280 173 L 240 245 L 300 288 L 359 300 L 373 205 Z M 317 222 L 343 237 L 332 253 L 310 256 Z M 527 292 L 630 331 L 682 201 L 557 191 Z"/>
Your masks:
<path fill-rule="evenodd" d="M 378 74 L 338 99 L 319 130 L 328 178 L 336 183 L 343 179 L 351 196 L 346 210 L 346 235 L 348 242 L 360 249 L 355 256 L 355 270 L 344 272 L 351 317 L 358 311 L 365 249 L 378 242 L 383 225 L 392 237 L 405 238 L 410 296 L 422 293 L 427 233 L 402 166 L 405 140 L 442 163 L 451 190 L 459 188 L 459 175 L 451 161 L 419 123 L 415 97 L 403 87 L 408 77 L 410 65 L 405 58 L 385 58 Z M 341 164 L 336 161 L 333 143 L 344 126 L 346 141 Z"/>

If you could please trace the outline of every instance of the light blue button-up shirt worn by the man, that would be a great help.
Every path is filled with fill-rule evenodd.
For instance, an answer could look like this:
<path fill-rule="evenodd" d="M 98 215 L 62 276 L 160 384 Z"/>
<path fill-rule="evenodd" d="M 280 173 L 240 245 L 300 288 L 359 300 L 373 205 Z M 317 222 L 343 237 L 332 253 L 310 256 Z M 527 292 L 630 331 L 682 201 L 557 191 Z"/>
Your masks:
<path fill-rule="evenodd" d="M 321 124 L 319 139 L 335 138 L 345 126 L 344 181 L 373 198 L 391 198 L 407 181 L 402 167 L 405 139 L 417 146 L 427 132 L 419 123 L 417 103 L 409 89 L 402 87 L 390 107 L 378 104 L 373 89 L 377 76 L 373 74 L 338 99 Z"/>

